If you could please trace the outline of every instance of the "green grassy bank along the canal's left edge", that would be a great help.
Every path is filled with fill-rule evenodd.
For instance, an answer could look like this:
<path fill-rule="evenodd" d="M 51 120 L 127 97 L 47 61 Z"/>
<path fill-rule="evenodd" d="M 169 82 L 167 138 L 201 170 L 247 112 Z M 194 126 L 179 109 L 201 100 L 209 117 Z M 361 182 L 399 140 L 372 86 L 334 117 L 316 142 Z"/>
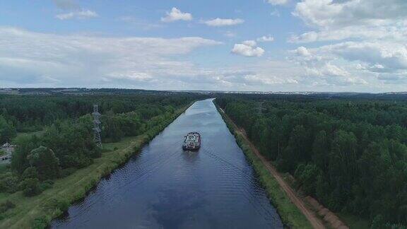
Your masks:
<path fill-rule="evenodd" d="M 1 215 L 0 228 L 45 228 L 52 218 L 60 216 L 74 201 L 85 197 L 99 180 L 126 163 L 142 146 L 163 131 L 168 124 L 182 114 L 188 106 L 177 110 L 165 121 L 144 134 L 127 137 L 118 143 L 105 144 L 105 151 L 92 165 L 76 170 L 73 174 L 55 180 L 52 188 L 37 196 L 27 197 L 22 192 L 0 194 L 0 203 L 11 201 L 16 205 Z"/>

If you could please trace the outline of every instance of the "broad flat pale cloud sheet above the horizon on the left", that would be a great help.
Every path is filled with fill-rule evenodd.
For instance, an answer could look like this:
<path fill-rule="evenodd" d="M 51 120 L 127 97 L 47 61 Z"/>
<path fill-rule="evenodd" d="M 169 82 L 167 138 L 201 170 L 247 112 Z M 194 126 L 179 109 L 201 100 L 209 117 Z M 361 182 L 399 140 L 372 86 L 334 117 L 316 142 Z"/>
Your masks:
<path fill-rule="evenodd" d="M 98 37 L 33 33 L 0 27 L 0 85 L 133 86 L 179 85 L 194 64 L 175 60 L 220 42 L 201 37 Z M 173 59 L 175 57 L 175 59 Z M 187 81 L 187 79 L 185 79 Z"/>

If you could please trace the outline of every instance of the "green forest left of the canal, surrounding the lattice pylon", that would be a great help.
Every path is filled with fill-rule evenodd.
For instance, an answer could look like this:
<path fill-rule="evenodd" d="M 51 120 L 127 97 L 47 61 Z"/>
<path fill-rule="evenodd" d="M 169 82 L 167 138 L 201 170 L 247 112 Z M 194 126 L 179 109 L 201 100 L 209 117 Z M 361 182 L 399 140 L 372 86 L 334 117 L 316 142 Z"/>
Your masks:
<path fill-rule="evenodd" d="M 70 175 L 93 163 L 102 149 L 93 141 L 94 103 L 100 104 L 102 141 L 136 136 L 172 117 L 175 110 L 200 95 L 110 95 L 110 96 L 9 96 L 0 100 L 2 123 L 15 136 L 16 127 L 35 123 L 40 134 L 13 139 L 17 145 L 10 170 L 0 174 L 0 192 L 23 190 L 26 196 L 52 186 L 52 180 Z M 4 104 L 10 106 L 3 106 Z M 36 107 L 38 106 L 38 107 Z M 36 110 L 36 108 L 38 108 Z M 29 129 L 29 128 L 28 128 Z M 0 129 L 1 133 L 1 129 Z"/>

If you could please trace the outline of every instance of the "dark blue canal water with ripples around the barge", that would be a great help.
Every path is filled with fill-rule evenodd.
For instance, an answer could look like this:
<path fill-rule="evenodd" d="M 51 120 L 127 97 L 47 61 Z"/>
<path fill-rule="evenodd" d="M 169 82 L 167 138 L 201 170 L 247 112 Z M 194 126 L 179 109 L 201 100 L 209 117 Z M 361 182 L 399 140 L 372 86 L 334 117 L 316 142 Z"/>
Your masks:
<path fill-rule="evenodd" d="M 199 131 L 198 152 L 182 151 Z M 191 105 L 52 228 L 283 228 L 212 100 Z"/>

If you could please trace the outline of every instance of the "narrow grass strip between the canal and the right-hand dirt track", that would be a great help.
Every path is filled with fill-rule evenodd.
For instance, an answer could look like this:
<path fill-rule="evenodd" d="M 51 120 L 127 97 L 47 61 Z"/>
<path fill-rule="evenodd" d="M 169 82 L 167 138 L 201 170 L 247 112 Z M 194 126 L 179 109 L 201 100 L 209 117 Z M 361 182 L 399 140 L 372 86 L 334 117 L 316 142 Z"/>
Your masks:
<path fill-rule="evenodd" d="M 247 160 L 252 163 L 254 170 L 259 175 L 261 184 L 269 195 L 269 199 L 273 203 L 273 206 L 276 207 L 278 214 L 281 216 L 281 220 L 288 228 L 312 228 L 312 225 L 309 223 L 307 218 L 301 213 L 297 206 L 293 204 L 288 196 L 285 195 L 285 192 L 281 189 L 278 182 L 270 174 L 269 170 L 266 169 L 264 164 L 259 158 L 252 152 L 252 149 L 249 147 L 249 143 L 240 135 L 237 134 L 235 126 L 231 123 L 231 120 L 219 112 L 226 125 L 235 135 L 237 144 L 242 148 L 242 151 L 246 155 Z"/>

